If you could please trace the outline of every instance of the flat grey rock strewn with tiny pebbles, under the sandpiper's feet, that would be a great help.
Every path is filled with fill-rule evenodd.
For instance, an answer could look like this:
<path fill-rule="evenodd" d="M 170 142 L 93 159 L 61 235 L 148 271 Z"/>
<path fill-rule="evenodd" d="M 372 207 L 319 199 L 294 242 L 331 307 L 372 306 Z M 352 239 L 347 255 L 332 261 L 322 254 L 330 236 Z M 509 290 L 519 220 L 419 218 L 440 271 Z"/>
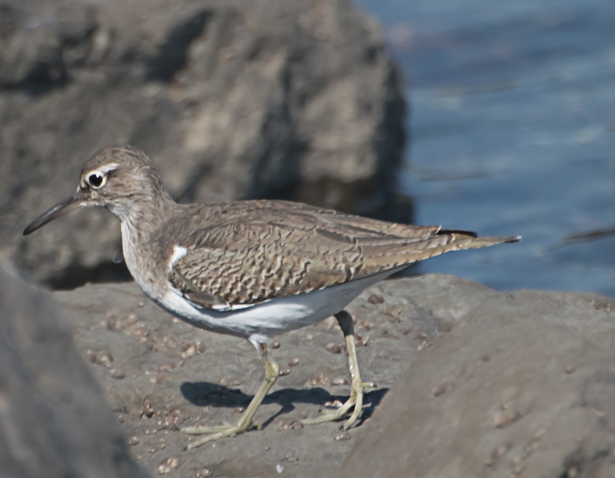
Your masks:
<path fill-rule="evenodd" d="M 399 289 L 389 284 L 395 281 L 370 289 L 349 309 L 360 343 L 367 344 L 358 350 L 363 377 L 380 387 L 368 391 L 371 407 L 415 354 L 423 340 L 416 333 L 424 330 L 433 338 L 446 329 L 440 319 L 411 305 L 407 281 L 400 281 Z M 86 285 L 54 297 L 73 322 L 77 348 L 89 358 L 106 401 L 127 436 L 138 440 L 134 455 L 153 474 L 172 461 L 179 463 L 170 470 L 172 477 L 196 476 L 203 469 L 213 476 L 271 477 L 278 465 L 282 476 L 330 476 L 363 430 L 343 433 L 339 423 L 293 426 L 349 393 L 343 349 L 328 350 L 331 343 L 344 345 L 330 319 L 279 337 L 272 354 L 288 375 L 279 378 L 256 414 L 261 431 L 185 452 L 192 437 L 178 428 L 232 423 L 247 406 L 263 379 L 253 346 L 172 319 L 135 284 Z"/>

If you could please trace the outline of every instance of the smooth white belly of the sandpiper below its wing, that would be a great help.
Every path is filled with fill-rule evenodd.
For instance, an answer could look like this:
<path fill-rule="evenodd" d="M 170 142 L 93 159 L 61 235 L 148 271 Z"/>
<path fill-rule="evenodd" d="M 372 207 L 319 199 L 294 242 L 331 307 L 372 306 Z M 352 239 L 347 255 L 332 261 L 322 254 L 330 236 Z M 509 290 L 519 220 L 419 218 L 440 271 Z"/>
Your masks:
<path fill-rule="evenodd" d="M 157 303 L 200 329 L 237 335 L 253 343 L 266 343 L 280 333 L 306 327 L 338 313 L 364 289 L 397 270 L 232 311 L 197 308 L 175 290 L 169 290 Z"/>

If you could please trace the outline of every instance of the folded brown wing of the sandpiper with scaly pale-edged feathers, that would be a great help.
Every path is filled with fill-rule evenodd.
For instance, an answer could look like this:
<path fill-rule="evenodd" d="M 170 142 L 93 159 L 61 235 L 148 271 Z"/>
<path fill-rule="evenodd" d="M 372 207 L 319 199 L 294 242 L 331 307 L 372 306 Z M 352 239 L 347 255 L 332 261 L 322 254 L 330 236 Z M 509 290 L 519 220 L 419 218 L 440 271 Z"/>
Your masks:
<path fill-rule="evenodd" d="M 210 223 L 180 241 L 188 251 L 172 265 L 169 281 L 195 303 L 221 310 L 341 284 L 448 250 L 514 239 L 277 201 L 230 203 Z"/>

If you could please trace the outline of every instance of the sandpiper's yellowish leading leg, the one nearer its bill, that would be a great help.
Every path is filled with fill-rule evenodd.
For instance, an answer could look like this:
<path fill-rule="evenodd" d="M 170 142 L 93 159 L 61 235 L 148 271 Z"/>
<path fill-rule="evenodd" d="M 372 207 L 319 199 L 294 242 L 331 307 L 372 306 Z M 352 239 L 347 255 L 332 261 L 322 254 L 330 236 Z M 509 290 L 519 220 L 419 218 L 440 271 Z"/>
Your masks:
<path fill-rule="evenodd" d="M 273 384 L 276 383 L 276 380 L 280 375 L 280 366 L 277 364 L 276 360 L 274 360 L 269 354 L 269 348 L 266 343 L 258 343 L 258 346 L 256 348 L 261 354 L 261 357 L 263 357 L 263 362 L 265 366 L 265 378 L 263 380 L 263 383 L 261 383 L 261 386 L 256 392 L 255 396 L 253 397 L 252 401 L 250 402 L 250 405 L 248 405 L 244 413 L 242 413 L 241 417 L 239 418 L 239 421 L 237 421 L 237 423 L 234 425 L 182 428 L 181 431 L 183 433 L 188 433 L 191 435 L 208 434 L 208 436 L 189 444 L 187 447 L 188 450 L 200 447 L 200 445 L 207 442 L 213 442 L 223 437 L 242 433 L 249 430 L 250 428 L 261 428 L 261 425 L 252 421 L 252 418 L 254 418 L 254 414 L 256 413 L 258 406 L 261 404 L 261 402 L 263 402 L 263 399 L 266 396 L 267 392 L 269 392 L 269 389 L 271 389 Z"/>

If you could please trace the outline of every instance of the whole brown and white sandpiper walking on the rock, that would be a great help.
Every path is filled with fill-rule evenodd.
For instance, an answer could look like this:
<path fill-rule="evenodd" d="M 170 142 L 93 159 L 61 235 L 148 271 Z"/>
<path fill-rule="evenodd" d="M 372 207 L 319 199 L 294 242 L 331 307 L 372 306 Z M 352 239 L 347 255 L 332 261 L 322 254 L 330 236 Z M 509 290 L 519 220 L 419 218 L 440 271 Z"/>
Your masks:
<path fill-rule="evenodd" d="M 408 265 L 451 250 L 519 237 L 478 237 L 440 226 L 413 226 L 288 201 L 177 204 L 143 151 L 115 146 L 94 154 L 73 196 L 28 225 L 30 234 L 79 207 L 104 207 L 121 220 L 130 274 L 157 305 L 200 329 L 250 341 L 264 381 L 234 425 L 189 428 L 194 448 L 258 427 L 256 409 L 279 376 L 273 337 L 335 316 L 346 341 L 349 399 L 304 424 L 359 420 L 364 383 L 352 317 L 344 311 L 364 289 Z"/>

